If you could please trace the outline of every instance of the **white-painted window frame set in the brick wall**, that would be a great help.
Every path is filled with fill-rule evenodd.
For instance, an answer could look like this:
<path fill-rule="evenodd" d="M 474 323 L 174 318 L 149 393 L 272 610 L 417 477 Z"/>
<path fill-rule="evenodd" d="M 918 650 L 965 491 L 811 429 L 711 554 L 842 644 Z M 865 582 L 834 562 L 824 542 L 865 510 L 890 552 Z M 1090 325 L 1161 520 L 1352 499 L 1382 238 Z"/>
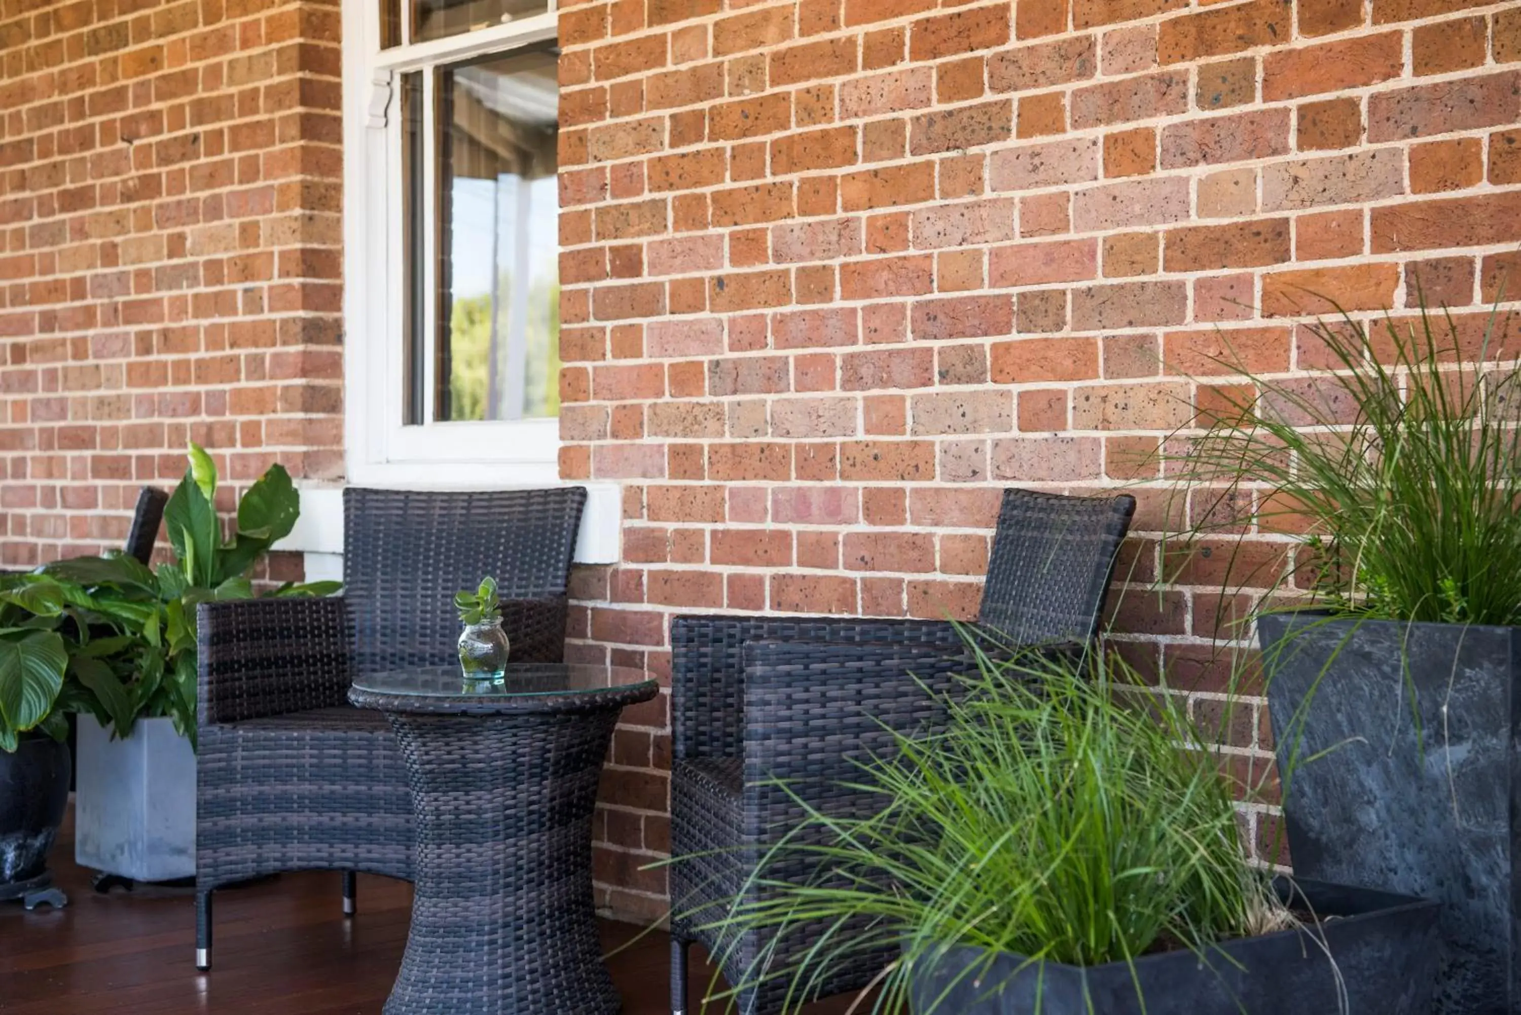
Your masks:
<path fill-rule="evenodd" d="M 560 420 L 432 422 L 426 356 L 424 423 L 403 425 L 406 257 L 400 158 L 400 75 L 552 41 L 558 15 L 526 17 L 441 40 L 380 49 L 377 0 L 342 0 L 344 56 L 344 444 L 348 481 L 364 485 L 531 485 L 560 481 Z M 403 21 L 406 21 L 403 11 Z M 406 32 L 403 24 L 403 32 Z M 432 75 L 424 107 L 432 108 Z M 429 113 L 429 116 L 432 116 Z M 424 160 L 423 193 L 435 190 Z M 432 204 L 424 221 L 432 222 Z M 420 256 L 437 271 L 435 231 Z M 433 321 L 435 286 L 424 285 Z"/>

